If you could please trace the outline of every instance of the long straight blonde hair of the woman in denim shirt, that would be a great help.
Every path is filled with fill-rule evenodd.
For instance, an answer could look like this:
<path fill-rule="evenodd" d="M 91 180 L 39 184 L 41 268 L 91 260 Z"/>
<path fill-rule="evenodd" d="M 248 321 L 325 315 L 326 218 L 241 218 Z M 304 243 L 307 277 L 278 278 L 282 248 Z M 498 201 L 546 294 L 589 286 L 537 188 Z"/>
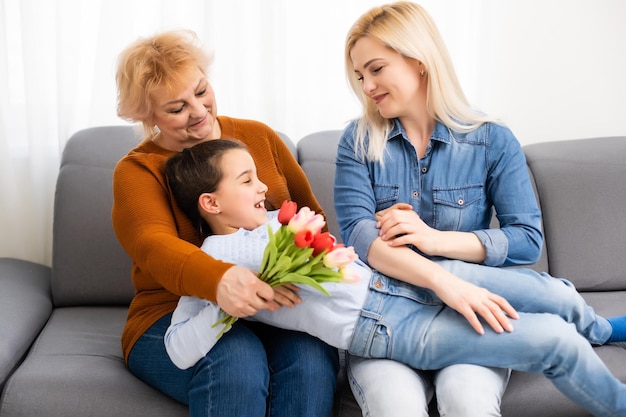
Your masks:
<path fill-rule="evenodd" d="M 426 110 L 450 129 L 468 132 L 495 121 L 473 109 L 461 89 L 452 60 L 434 21 L 421 6 L 400 1 L 374 7 L 352 25 L 346 36 L 345 65 L 350 87 L 363 106 L 357 121 L 356 149 L 373 161 L 382 161 L 393 122 L 382 117 L 361 88 L 350 52 L 356 42 L 370 37 L 399 54 L 420 61 L 428 74 Z M 365 137 L 369 145 L 365 149 Z"/>

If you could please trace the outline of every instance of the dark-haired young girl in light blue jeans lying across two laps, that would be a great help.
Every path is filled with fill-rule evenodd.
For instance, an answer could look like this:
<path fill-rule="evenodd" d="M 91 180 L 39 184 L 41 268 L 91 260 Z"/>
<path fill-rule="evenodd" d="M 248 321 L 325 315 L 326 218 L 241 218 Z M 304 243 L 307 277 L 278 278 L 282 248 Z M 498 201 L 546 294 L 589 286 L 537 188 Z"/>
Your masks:
<path fill-rule="evenodd" d="M 230 140 L 204 142 L 171 157 L 166 174 L 180 208 L 214 233 L 202 249 L 258 271 L 267 222 L 274 230 L 280 224 L 276 212 L 265 210 L 267 187 L 246 148 Z M 483 287 L 498 306 L 492 314 L 508 331 L 478 334 L 433 291 L 381 275 L 359 261 L 350 266 L 362 277 L 357 283 L 323 284 L 330 297 L 302 286 L 299 305 L 260 311 L 252 319 L 310 333 L 356 356 L 420 369 L 473 363 L 543 372 L 595 415 L 626 416 L 626 385 L 590 344 L 626 340 L 625 317 L 614 320 L 613 328 L 568 281 L 547 274 L 462 261 L 437 265 L 461 276 L 468 288 Z M 512 281 L 518 282 L 514 291 Z M 515 320 L 515 329 L 507 325 L 506 315 Z M 165 337 L 172 361 L 185 368 L 204 357 L 219 343 L 221 328 L 212 325 L 221 317 L 217 305 L 182 297 Z"/>

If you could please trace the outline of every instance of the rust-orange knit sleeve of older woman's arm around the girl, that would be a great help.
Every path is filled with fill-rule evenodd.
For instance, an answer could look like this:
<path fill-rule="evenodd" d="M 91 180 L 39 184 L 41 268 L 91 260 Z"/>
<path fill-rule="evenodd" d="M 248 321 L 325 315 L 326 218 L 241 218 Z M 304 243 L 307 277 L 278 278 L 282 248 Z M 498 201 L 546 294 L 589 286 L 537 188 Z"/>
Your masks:
<path fill-rule="evenodd" d="M 117 164 L 113 227 L 141 276 L 153 280 L 135 285 L 157 285 L 176 295 L 215 300 L 219 277 L 232 265 L 210 258 L 198 247 L 195 228 L 169 196 L 162 172 L 166 158 L 138 152 Z"/>

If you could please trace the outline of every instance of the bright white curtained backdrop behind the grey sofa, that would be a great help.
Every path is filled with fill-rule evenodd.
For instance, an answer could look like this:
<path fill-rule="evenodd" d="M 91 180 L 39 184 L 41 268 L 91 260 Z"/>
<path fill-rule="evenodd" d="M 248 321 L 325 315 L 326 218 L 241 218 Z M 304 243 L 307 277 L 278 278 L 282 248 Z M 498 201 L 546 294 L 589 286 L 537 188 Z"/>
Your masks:
<path fill-rule="evenodd" d="M 377 0 L 0 0 L 0 257 L 50 264 L 60 155 L 116 116 L 115 63 L 140 36 L 198 33 L 219 112 L 294 141 L 358 114 L 343 71 Z M 465 91 L 522 143 L 626 135 L 626 2 L 424 0 Z"/>

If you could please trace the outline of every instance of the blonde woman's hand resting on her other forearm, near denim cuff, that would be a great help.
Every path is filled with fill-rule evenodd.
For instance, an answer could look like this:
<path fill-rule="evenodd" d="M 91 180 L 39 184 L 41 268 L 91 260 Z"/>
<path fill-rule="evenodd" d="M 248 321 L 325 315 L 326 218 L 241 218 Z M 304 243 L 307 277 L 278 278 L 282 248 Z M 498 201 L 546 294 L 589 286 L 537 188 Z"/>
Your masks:
<path fill-rule="evenodd" d="M 376 213 L 380 238 L 390 246 L 412 244 L 428 255 L 438 255 L 441 232 L 428 226 L 410 204 L 398 203 Z"/>

